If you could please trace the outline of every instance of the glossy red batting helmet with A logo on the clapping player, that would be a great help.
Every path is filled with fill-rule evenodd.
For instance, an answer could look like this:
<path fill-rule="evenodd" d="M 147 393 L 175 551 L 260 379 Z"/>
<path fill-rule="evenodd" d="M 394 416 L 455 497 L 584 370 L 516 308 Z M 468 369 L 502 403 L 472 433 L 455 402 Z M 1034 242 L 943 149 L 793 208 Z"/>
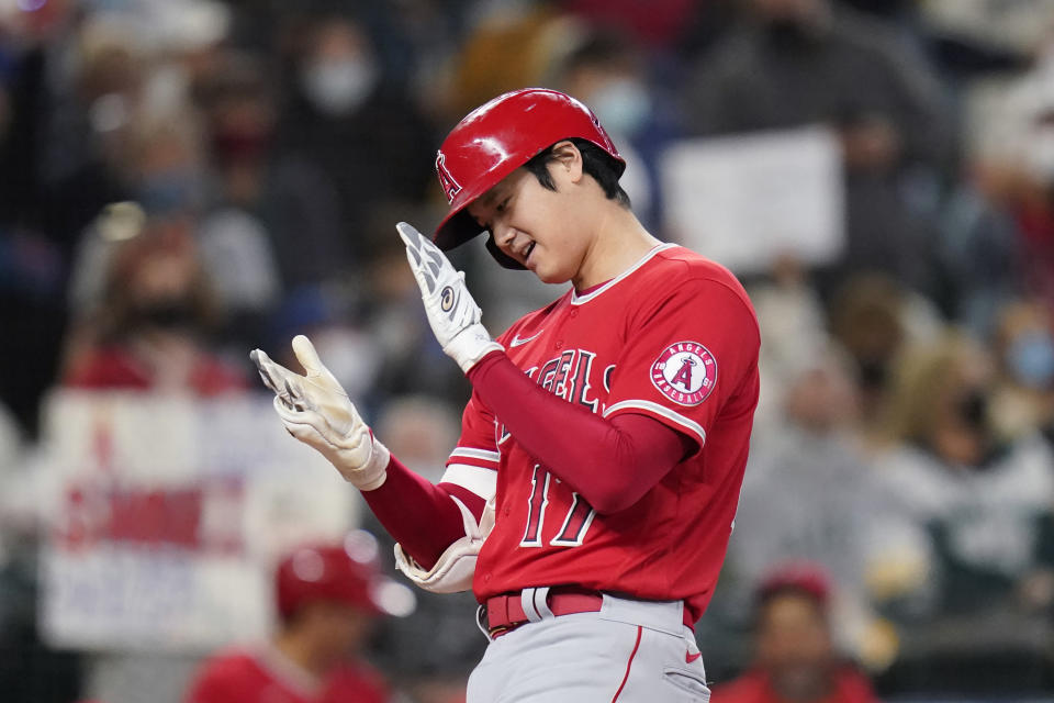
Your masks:
<path fill-rule="evenodd" d="M 503 178 L 561 140 L 581 137 L 607 152 L 621 176 L 626 161 L 596 115 L 571 96 L 525 88 L 494 98 L 470 112 L 444 141 L 436 174 L 450 203 L 433 241 L 452 249 L 483 232 L 466 208 Z M 487 248 L 506 268 L 523 268 L 494 245 Z"/>

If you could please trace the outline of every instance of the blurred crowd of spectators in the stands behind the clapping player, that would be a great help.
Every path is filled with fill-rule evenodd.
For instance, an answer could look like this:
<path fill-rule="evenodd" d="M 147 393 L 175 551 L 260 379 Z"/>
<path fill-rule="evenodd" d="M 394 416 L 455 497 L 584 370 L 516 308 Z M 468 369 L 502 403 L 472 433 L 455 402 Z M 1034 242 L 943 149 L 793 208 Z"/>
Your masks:
<path fill-rule="evenodd" d="M 378 532 L 249 349 L 311 335 L 438 476 L 469 388 L 393 225 L 525 86 L 590 104 L 762 321 L 710 679 L 792 562 L 884 700 L 1054 700 L 1050 0 L 0 0 L 0 700 L 180 701 L 267 636 L 283 550 Z M 492 331 L 561 292 L 455 259 Z M 418 594 L 366 656 L 451 703 L 472 620 Z"/>

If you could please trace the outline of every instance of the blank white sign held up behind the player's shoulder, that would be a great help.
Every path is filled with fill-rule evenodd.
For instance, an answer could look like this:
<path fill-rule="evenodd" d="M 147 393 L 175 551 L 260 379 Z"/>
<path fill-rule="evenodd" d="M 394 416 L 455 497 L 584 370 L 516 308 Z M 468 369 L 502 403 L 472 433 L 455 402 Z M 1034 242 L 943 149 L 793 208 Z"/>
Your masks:
<path fill-rule="evenodd" d="M 737 274 L 782 256 L 806 265 L 844 247 L 844 185 L 826 127 L 677 142 L 660 159 L 671 237 Z"/>

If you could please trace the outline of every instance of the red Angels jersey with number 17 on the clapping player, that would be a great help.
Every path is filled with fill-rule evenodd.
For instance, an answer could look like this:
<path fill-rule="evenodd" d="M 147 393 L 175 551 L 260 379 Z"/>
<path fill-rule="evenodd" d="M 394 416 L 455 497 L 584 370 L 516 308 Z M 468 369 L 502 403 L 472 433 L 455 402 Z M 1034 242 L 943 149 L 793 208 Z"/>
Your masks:
<path fill-rule="evenodd" d="M 473 394 L 448 466 L 497 471 L 476 598 L 576 584 L 683 600 L 697 620 L 725 559 L 758 404 L 761 339 L 742 286 L 724 267 L 661 245 L 599 288 L 568 291 L 524 316 L 498 341 L 567 402 L 605 417 L 648 415 L 698 450 L 636 504 L 601 515 Z"/>

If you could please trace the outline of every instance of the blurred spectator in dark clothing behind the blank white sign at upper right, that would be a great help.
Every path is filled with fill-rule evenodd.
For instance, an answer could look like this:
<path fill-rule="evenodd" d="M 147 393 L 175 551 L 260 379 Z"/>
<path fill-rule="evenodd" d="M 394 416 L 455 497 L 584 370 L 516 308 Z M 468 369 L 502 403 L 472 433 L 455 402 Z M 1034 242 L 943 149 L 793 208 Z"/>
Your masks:
<path fill-rule="evenodd" d="M 951 154 L 941 86 L 890 26 L 831 0 L 751 0 L 684 86 L 696 134 L 826 124 L 841 141 L 846 249 L 833 280 L 877 269 L 931 286 L 932 233 Z M 818 282 L 829 292 L 832 281 Z"/>

